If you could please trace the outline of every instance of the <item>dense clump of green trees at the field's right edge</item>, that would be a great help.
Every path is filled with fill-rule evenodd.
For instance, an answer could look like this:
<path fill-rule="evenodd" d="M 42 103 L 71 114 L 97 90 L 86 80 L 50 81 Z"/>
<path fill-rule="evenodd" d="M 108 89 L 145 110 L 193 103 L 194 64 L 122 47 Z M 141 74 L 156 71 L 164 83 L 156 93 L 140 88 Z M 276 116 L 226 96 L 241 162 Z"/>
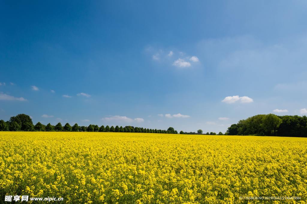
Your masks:
<path fill-rule="evenodd" d="M 307 137 L 306 116 L 255 115 L 231 125 L 226 135 Z"/>

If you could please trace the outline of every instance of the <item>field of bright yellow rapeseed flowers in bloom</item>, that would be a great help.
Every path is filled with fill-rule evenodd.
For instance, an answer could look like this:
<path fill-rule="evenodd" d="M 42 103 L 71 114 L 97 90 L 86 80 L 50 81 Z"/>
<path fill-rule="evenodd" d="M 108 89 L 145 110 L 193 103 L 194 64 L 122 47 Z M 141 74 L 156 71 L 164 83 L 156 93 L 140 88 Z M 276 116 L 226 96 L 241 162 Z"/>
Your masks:
<path fill-rule="evenodd" d="M 306 162 L 307 138 L 0 132 L 0 202 L 305 203 Z"/>

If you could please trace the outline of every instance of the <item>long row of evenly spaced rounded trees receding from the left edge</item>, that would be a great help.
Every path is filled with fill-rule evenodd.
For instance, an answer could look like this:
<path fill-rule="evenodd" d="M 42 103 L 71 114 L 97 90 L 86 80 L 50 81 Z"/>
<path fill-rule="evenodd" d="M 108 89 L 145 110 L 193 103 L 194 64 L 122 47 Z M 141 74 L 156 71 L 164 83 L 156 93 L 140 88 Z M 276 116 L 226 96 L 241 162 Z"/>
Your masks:
<path fill-rule="evenodd" d="M 134 126 L 118 126 L 116 125 L 106 127 L 104 125 L 88 125 L 88 126 L 79 126 L 77 123 L 71 126 L 69 123 L 66 123 L 64 126 L 59 122 L 56 125 L 47 125 L 37 122 L 36 125 L 33 125 L 32 119 L 26 114 L 18 114 L 17 116 L 10 117 L 9 121 L 0 120 L 0 131 L 63 131 L 63 132 L 122 132 L 122 133 L 165 133 L 165 134 L 178 134 L 177 130 L 172 127 L 169 127 L 167 130 L 161 129 L 149 129 L 149 128 L 140 128 Z"/>

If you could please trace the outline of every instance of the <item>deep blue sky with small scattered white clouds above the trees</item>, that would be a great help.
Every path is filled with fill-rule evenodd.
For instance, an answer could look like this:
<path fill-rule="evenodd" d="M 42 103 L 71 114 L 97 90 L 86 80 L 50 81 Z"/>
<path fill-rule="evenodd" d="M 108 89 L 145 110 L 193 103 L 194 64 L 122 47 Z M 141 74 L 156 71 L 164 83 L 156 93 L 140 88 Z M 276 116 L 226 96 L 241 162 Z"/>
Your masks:
<path fill-rule="evenodd" d="M 0 2 L 0 118 L 225 132 L 307 114 L 306 1 Z"/>

